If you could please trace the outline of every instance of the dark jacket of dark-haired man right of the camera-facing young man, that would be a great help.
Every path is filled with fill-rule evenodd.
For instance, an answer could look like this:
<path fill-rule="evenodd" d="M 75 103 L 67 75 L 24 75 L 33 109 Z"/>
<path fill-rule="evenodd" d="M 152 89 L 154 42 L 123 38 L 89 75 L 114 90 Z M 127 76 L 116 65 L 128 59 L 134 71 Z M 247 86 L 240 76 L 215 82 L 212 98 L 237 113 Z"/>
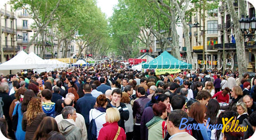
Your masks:
<path fill-rule="evenodd" d="M 142 96 L 139 99 L 135 100 L 133 103 L 133 118 L 136 119 L 136 123 L 140 124 L 141 116 L 145 105 L 150 101 L 146 96 Z"/>

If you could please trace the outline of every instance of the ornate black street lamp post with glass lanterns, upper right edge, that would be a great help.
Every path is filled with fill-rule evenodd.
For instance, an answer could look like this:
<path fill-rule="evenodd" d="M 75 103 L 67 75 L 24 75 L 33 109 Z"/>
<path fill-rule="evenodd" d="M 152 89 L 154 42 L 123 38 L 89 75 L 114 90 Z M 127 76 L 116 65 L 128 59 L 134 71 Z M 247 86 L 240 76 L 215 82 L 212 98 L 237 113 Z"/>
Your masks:
<path fill-rule="evenodd" d="M 249 64 L 247 66 L 248 72 L 253 72 L 253 67 L 251 65 L 251 50 L 253 45 L 255 45 L 254 37 L 255 37 L 255 26 L 256 26 L 256 18 L 255 15 L 252 16 L 251 19 L 249 19 L 249 16 L 244 17 L 242 15 L 242 18 L 239 20 L 240 22 L 240 29 L 244 35 L 245 47 L 248 48 L 249 51 Z"/>

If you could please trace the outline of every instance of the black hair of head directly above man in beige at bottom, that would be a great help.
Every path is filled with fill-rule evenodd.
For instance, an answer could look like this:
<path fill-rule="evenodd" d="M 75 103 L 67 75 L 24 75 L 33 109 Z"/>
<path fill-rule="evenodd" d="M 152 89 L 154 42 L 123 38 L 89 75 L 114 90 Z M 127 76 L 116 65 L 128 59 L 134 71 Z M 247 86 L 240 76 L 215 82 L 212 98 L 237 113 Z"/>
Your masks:
<path fill-rule="evenodd" d="M 175 95 L 170 101 L 170 104 L 172 104 L 173 110 L 182 109 L 185 104 L 185 97 L 182 95 Z"/>

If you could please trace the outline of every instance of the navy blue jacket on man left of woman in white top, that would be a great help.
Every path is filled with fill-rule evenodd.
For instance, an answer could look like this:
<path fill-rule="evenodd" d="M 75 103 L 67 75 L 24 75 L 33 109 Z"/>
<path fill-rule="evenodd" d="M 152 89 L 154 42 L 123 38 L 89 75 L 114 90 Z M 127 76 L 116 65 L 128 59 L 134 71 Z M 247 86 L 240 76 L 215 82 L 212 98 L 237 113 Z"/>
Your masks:
<path fill-rule="evenodd" d="M 96 98 L 92 94 L 84 94 L 84 96 L 78 99 L 76 103 L 76 111 L 81 114 L 86 122 L 86 125 L 89 125 L 89 113 L 90 110 L 94 107 Z"/>

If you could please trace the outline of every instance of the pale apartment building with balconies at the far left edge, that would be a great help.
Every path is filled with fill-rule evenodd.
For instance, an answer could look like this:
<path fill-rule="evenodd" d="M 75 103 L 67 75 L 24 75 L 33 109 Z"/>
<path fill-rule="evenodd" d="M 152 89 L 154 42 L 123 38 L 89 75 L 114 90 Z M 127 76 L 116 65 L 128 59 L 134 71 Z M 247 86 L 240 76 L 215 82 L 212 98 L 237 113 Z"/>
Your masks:
<path fill-rule="evenodd" d="M 15 17 L 15 11 L 11 8 L 10 5 L 4 4 L 1 7 L 1 44 L 4 51 L 4 59 L 1 62 L 5 62 L 14 57 L 17 51 L 20 50 L 20 46 L 17 45 L 17 36 L 16 36 L 16 25 L 17 19 Z M 1 55 L 1 53 L 0 53 Z"/>

